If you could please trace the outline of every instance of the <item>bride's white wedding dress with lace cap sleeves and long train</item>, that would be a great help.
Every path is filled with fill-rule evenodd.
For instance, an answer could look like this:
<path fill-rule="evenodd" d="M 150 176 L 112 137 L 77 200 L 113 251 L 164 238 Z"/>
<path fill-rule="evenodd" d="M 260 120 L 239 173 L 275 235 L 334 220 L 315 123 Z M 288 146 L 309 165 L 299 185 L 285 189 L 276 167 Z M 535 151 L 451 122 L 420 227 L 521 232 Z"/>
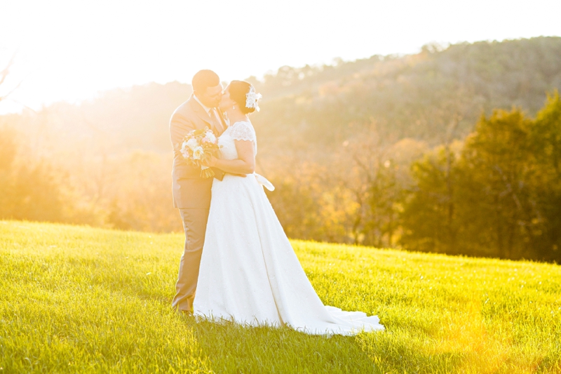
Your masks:
<path fill-rule="evenodd" d="M 238 158 L 234 140 L 251 140 L 257 154 L 250 122 L 236 122 L 220 135 L 222 159 Z M 264 180 L 225 175 L 212 183 L 194 314 L 317 335 L 384 330 L 377 316 L 323 305 L 258 178 Z"/>

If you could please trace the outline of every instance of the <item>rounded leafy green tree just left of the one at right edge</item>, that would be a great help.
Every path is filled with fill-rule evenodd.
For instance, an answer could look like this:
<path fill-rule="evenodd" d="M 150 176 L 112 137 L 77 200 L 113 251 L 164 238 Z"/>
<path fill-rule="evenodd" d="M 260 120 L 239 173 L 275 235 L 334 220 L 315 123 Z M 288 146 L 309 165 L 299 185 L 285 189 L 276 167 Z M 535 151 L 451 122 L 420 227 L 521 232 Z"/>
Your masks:
<path fill-rule="evenodd" d="M 520 109 L 483 116 L 466 140 L 461 159 L 464 196 L 460 218 L 487 255 L 528 258 L 534 228 L 532 121 Z"/>

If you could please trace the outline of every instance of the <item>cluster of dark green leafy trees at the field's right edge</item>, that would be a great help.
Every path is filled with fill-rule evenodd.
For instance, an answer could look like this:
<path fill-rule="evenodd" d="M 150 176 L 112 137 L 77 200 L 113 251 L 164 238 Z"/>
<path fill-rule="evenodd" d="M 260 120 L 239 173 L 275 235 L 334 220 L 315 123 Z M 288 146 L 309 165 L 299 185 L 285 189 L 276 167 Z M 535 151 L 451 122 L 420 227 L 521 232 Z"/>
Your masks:
<path fill-rule="evenodd" d="M 402 214 L 406 248 L 560 260 L 561 100 L 535 120 L 521 109 L 482 116 L 461 152 L 439 147 L 412 165 Z"/>

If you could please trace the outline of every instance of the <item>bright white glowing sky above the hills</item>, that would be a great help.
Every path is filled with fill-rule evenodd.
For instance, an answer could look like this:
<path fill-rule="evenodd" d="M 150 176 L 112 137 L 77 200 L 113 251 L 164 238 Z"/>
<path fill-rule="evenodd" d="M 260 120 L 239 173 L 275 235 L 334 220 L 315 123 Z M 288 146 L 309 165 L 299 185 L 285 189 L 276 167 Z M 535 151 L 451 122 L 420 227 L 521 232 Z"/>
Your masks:
<path fill-rule="evenodd" d="M 222 81 L 424 44 L 561 36 L 560 0 L 0 0 L 0 114 L 199 69 Z"/>

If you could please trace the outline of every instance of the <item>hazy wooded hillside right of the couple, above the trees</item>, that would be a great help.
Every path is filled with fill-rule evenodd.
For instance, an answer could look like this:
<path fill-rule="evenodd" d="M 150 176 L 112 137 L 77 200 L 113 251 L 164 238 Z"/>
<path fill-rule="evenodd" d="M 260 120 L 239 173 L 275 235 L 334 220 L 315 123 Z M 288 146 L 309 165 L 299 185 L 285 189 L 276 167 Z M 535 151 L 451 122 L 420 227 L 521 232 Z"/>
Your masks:
<path fill-rule="evenodd" d="M 281 67 L 258 86 L 268 100 L 256 123 L 274 138 L 288 133 L 339 145 L 375 121 L 386 141 L 434 145 L 454 121 L 448 135 L 463 138 L 494 108 L 514 105 L 534 115 L 546 92 L 561 88 L 561 38 L 425 46 L 417 55 Z"/>

